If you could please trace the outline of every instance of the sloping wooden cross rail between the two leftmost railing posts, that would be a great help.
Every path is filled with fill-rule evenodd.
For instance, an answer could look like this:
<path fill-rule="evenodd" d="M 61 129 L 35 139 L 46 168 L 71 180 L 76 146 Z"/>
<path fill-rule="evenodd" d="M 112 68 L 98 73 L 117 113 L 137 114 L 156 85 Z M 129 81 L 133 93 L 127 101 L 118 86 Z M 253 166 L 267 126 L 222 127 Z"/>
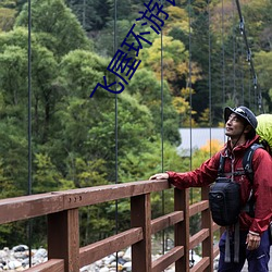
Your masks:
<path fill-rule="evenodd" d="M 141 227 L 134 227 L 79 249 L 81 268 L 143 240 Z"/>

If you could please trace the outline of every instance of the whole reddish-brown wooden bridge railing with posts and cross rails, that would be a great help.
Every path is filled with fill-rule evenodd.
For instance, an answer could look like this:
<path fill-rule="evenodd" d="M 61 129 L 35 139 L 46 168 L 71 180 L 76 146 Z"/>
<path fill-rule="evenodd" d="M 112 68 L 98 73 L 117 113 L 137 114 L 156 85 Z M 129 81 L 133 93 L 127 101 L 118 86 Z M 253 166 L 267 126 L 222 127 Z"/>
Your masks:
<path fill-rule="evenodd" d="M 0 224 L 47 215 L 48 261 L 27 272 L 78 272 L 84 265 L 110 254 L 132 247 L 133 272 L 161 272 L 175 262 L 175 271 L 213 271 L 219 249 L 213 246 L 213 233 L 208 188 L 202 200 L 189 206 L 188 189 L 174 189 L 174 210 L 151 220 L 150 194 L 170 189 L 166 181 L 144 181 L 52 191 L 0 200 Z M 81 207 L 131 199 L 131 228 L 97 243 L 79 247 Z M 189 236 L 189 218 L 201 213 L 201 231 Z M 151 235 L 174 225 L 174 247 L 159 259 L 151 260 Z M 202 246 L 201 260 L 189 269 L 189 250 Z"/>

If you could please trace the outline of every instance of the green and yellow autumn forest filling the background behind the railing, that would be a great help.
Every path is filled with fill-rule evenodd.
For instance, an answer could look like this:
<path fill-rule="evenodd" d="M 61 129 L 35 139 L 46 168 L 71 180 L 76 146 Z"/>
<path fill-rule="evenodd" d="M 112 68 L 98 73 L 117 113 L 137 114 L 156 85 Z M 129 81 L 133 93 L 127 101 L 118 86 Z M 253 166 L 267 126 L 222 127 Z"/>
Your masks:
<path fill-rule="evenodd" d="M 222 127 L 225 106 L 271 112 L 270 0 L 239 1 L 250 55 L 236 1 L 160 1 L 158 33 L 137 24 L 148 2 L 0 2 L 1 199 L 188 171 L 219 145 L 185 158 L 176 152 L 178 128 Z M 150 33 L 143 36 L 149 42 L 138 52 L 140 65 L 121 94 L 100 87 L 90 98 L 103 76 L 114 81 L 108 66 L 134 24 L 135 33 Z M 172 196 L 164 198 L 171 209 Z M 157 217 L 161 195 L 152 196 L 152 205 Z M 118 203 L 120 230 L 129 224 L 128 206 Z M 45 220 L 33 222 L 37 246 L 46 246 Z M 83 208 L 81 225 L 83 245 L 107 237 L 115 232 L 115 203 Z M 0 247 L 26 240 L 26 228 L 27 222 L 0 225 Z"/>

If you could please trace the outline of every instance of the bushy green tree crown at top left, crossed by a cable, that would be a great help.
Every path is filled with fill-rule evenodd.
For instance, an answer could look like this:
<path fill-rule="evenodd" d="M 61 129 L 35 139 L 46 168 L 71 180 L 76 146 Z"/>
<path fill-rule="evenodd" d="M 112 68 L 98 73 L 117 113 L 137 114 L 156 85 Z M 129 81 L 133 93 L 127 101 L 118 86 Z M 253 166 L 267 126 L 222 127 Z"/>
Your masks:
<path fill-rule="evenodd" d="M 39 42 L 57 57 L 75 49 L 91 48 L 86 33 L 63 0 L 32 1 L 32 32 L 39 34 Z M 27 3 L 16 18 L 17 26 L 28 26 Z"/>

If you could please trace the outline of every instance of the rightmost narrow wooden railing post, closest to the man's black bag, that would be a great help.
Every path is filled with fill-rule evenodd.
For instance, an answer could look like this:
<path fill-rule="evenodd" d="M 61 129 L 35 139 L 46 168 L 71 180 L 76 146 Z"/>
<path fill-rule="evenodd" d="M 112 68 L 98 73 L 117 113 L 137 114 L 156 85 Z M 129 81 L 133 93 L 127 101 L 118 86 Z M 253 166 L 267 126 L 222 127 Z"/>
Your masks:
<path fill-rule="evenodd" d="M 208 200 L 209 187 L 201 188 L 202 200 Z M 209 228 L 209 236 L 202 242 L 202 257 L 210 258 L 210 264 L 205 272 L 213 271 L 213 231 L 210 209 L 201 212 L 201 228 Z"/>

